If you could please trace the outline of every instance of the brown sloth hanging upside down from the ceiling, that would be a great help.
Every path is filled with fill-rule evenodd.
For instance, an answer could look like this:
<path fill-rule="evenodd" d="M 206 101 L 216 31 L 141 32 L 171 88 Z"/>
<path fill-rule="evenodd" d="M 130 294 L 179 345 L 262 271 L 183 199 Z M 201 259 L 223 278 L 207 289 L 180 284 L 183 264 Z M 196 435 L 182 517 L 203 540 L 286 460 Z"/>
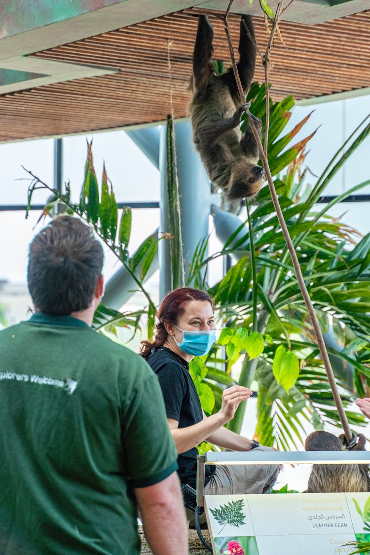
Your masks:
<path fill-rule="evenodd" d="M 247 33 L 245 26 L 249 29 Z M 194 144 L 200 154 L 211 182 L 223 189 L 226 198 L 252 199 L 265 181 L 265 170 L 257 165 L 259 151 L 247 123 L 245 133 L 240 130 L 240 117 L 250 104 L 243 103 L 237 89 L 232 68 L 215 75 L 211 63 L 213 29 L 206 16 L 200 16 L 193 54 L 193 75 L 190 89 L 192 100 L 190 118 Z M 250 89 L 255 71 L 256 47 L 251 16 L 240 21 L 239 63 L 245 95 Z M 262 122 L 254 119 L 261 136 Z"/>

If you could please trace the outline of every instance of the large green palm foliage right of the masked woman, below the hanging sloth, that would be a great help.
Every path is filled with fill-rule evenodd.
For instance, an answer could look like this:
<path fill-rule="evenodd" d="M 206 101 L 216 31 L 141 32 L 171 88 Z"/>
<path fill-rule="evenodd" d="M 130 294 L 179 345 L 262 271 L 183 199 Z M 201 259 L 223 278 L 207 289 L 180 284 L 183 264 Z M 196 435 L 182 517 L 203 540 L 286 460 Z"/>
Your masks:
<path fill-rule="evenodd" d="M 252 103 L 252 113 L 263 121 L 265 85 L 254 83 L 247 100 Z M 293 104 L 291 98 L 275 104 L 270 100 L 268 153 L 272 165 L 276 164 L 276 158 L 282 156 L 284 149 L 289 154 L 292 150 L 290 140 L 309 120 L 308 116 L 290 134 L 284 134 Z M 353 425 L 363 425 L 364 419 L 351 412 L 351 402 L 358 395 L 370 395 L 370 373 L 364 365 L 368 359 L 366 345 L 370 337 L 370 234 L 361 238 L 351 226 L 328 215 L 328 210 L 349 194 L 361 190 L 370 180 L 338 195 L 322 209 L 317 209 L 315 202 L 369 134 L 370 124 L 366 118 L 338 149 L 316 184 L 303 183 L 304 147 L 292 156 L 289 163 L 286 160 L 285 174 L 280 173 L 275 178 L 280 205 L 297 249 L 306 286 L 325 330 L 328 354 L 348 421 Z M 203 255 L 205 247 L 203 241 Z M 249 222 L 241 221 L 239 229 L 219 253 L 208 258 L 203 256 L 202 260 L 199 256 L 192 272 L 196 271 L 197 264 L 198 267 L 204 266 L 219 256 L 230 254 L 236 255 L 236 264 L 210 290 L 220 319 L 230 328 L 242 326 L 250 331 L 254 324 L 255 329 L 273 339 L 265 346 L 257 364 L 244 355 L 239 380 L 241 385 L 251 384 L 253 379 L 259 384 L 256 435 L 265 445 L 275 442 L 282 449 L 298 447 L 305 436 L 306 423 L 312 422 L 318 429 L 326 423 L 338 425 L 338 415 L 267 187 L 260 191 L 258 205 L 250 210 Z M 255 280 L 252 280 L 252 260 L 256 263 Z M 257 324 L 254 311 L 257 312 Z M 285 352 L 291 350 L 301 361 L 300 374 L 288 392 L 277 383 L 272 372 L 279 345 L 285 347 Z M 234 431 L 240 431 L 243 410 L 244 403 L 229 423 Z"/>

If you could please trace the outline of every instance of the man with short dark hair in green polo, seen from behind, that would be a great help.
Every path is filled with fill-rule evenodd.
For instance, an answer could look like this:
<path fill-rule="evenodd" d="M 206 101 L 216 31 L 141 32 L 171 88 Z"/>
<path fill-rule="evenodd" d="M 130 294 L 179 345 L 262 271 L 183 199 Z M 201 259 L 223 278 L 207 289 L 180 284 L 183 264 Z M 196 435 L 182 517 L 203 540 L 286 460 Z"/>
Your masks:
<path fill-rule="evenodd" d="M 0 332 L 0 553 L 156 555 L 187 530 L 158 378 L 95 332 L 103 250 L 58 216 L 29 249 L 35 313 Z"/>

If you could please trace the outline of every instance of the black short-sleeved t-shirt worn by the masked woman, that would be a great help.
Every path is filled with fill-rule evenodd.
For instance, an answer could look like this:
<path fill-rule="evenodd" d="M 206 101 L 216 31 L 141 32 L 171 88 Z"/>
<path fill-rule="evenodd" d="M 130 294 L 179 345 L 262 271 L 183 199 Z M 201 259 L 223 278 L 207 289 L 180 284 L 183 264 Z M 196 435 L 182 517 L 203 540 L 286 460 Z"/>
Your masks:
<path fill-rule="evenodd" d="M 159 378 L 168 418 L 187 428 L 203 420 L 199 395 L 189 374 L 189 362 L 167 347 L 157 347 L 146 359 Z M 178 457 L 179 476 L 183 484 L 196 488 L 196 447 Z M 216 467 L 206 466 L 205 483 L 214 475 Z"/>

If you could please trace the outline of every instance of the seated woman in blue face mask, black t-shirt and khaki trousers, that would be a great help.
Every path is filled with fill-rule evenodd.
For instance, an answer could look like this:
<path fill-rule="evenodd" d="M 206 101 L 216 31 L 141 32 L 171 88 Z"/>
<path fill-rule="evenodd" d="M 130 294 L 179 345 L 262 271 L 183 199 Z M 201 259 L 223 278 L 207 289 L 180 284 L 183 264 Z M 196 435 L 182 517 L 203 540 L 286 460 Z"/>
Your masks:
<path fill-rule="evenodd" d="M 237 407 L 252 391 L 235 385 L 222 393 L 219 412 L 206 416 L 189 374 L 194 356 L 206 355 L 216 341 L 213 301 L 205 292 L 181 287 L 162 301 L 155 341 L 143 341 L 141 354 L 158 375 L 171 434 L 179 457 L 181 483 L 196 488 L 197 448 L 202 441 L 233 451 L 271 450 L 227 430 Z M 265 493 L 276 481 L 278 466 L 206 466 L 205 493 Z M 188 515 L 190 518 L 190 515 Z"/>

